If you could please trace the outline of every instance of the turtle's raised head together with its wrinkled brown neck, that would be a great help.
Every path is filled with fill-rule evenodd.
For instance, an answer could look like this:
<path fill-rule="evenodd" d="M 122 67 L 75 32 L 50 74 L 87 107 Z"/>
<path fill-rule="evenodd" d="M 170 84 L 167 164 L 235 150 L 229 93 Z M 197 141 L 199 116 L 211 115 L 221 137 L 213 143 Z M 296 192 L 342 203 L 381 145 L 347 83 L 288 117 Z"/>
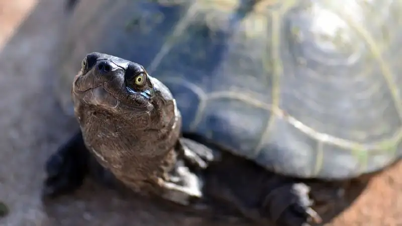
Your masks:
<path fill-rule="evenodd" d="M 71 96 L 85 144 L 115 175 L 125 169 L 124 175 L 142 178 L 141 164 L 133 161 L 156 169 L 150 164 L 159 164 L 155 159 L 164 158 L 179 137 L 181 117 L 172 94 L 137 63 L 90 53 Z"/>

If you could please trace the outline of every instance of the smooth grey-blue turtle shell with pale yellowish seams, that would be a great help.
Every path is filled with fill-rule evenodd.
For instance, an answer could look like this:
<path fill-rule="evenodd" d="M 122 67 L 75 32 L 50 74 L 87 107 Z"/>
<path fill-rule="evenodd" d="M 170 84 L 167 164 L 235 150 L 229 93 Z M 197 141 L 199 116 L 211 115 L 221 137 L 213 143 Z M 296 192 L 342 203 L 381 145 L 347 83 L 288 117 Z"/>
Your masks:
<path fill-rule="evenodd" d="M 57 93 L 89 52 L 144 65 L 182 131 L 275 172 L 350 178 L 401 156 L 401 1 L 79 2 Z"/>

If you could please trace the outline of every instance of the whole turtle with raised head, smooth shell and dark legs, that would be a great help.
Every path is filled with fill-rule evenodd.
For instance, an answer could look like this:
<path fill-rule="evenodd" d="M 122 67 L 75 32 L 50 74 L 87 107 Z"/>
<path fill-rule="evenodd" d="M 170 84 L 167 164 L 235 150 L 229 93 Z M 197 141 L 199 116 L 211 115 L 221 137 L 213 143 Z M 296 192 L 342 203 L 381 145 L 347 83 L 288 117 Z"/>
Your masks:
<path fill-rule="evenodd" d="M 49 157 L 45 193 L 77 189 L 94 157 L 144 195 L 221 198 L 278 225 L 320 221 L 309 179 L 347 181 L 402 156 L 401 7 L 76 3 L 55 87 L 80 130 Z"/>

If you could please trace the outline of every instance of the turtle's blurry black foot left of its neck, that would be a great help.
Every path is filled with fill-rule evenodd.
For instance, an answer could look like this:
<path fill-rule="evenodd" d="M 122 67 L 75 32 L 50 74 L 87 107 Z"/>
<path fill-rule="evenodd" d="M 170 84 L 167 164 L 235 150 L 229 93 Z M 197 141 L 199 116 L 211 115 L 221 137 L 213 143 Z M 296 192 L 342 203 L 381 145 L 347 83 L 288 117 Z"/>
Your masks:
<path fill-rule="evenodd" d="M 81 186 L 88 173 L 88 157 L 82 135 L 76 133 L 46 161 L 43 197 L 53 198 L 71 193 Z"/>

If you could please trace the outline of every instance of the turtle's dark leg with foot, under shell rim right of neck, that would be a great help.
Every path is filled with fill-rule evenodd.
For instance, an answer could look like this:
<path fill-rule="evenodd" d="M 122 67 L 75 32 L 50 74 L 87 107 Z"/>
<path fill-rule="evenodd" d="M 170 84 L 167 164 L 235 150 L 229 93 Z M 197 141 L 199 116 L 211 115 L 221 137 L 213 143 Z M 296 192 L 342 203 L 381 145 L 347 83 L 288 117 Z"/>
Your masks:
<path fill-rule="evenodd" d="M 309 186 L 244 158 L 223 155 L 219 164 L 205 170 L 206 196 L 262 225 L 307 226 L 321 221 L 311 208 Z"/>

